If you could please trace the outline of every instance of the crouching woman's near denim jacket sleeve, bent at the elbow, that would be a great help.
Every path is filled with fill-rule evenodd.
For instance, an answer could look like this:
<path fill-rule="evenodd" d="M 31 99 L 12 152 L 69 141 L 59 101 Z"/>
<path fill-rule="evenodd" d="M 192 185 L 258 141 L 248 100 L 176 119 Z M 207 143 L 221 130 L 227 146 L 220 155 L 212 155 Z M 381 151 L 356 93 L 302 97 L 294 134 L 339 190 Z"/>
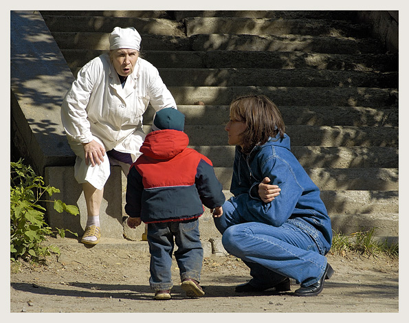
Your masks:
<path fill-rule="evenodd" d="M 303 189 L 289 164 L 282 159 L 274 158 L 265 163 L 262 172 L 263 178 L 269 177 L 272 185 L 281 188 L 278 197 L 269 203 L 264 203 L 259 197 L 241 194 L 238 202 L 243 203 L 242 205 L 261 222 L 279 227 L 293 214 Z"/>

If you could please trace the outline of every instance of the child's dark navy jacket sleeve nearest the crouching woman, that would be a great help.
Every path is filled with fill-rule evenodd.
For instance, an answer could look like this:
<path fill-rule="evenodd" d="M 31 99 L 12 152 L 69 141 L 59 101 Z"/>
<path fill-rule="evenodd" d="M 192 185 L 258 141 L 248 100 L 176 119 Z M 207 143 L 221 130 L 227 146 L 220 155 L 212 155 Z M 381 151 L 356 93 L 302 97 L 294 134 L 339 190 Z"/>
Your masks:
<path fill-rule="evenodd" d="M 216 208 L 223 205 L 225 196 L 223 186 L 214 174 L 213 166 L 201 159 L 197 165 L 195 184 L 197 192 L 206 208 Z"/>

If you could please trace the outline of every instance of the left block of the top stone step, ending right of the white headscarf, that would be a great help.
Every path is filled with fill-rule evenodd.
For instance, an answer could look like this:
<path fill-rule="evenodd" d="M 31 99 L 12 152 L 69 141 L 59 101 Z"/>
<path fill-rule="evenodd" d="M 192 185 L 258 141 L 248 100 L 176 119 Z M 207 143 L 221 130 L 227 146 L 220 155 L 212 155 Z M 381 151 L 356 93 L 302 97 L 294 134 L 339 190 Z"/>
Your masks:
<path fill-rule="evenodd" d="M 135 27 L 140 34 L 186 36 L 184 25 L 169 19 L 119 16 L 49 16 L 43 14 L 52 32 L 105 32 L 115 27 Z"/>

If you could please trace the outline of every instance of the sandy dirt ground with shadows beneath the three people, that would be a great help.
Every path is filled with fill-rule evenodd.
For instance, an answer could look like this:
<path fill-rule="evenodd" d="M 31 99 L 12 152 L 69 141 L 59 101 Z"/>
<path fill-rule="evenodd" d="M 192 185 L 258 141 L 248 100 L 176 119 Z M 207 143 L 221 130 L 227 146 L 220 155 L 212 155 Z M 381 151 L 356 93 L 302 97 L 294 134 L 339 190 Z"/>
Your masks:
<path fill-rule="evenodd" d="M 320 295 L 302 298 L 293 294 L 295 281 L 291 292 L 236 293 L 234 286 L 250 279 L 249 270 L 233 256 L 211 254 L 203 260 L 203 298 L 186 297 L 174 263 L 172 299 L 157 301 L 148 284 L 146 242 L 102 239 L 86 247 L 51 238 L 47 244 L 60 247 L 60 256 L 49 256 L 45 265 L 11 265 L 10 313 L 399 312 L 397 258 L 329 254 L 335 274 Z"/>

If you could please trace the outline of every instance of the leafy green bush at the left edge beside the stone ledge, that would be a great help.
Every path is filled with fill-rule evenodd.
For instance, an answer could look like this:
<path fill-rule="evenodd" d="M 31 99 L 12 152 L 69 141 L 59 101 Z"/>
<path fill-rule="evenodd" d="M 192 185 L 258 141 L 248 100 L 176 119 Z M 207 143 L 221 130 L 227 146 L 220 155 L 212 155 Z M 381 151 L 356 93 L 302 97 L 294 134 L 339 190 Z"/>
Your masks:
<path fill-rule="evenodd" d="M 40 260 L 50 252 L 59 254 L 58 247 L 42 247 L 41 242 L 46 236 L 54 234 L 52 228 L 45 223 L 45 202 L 51 202 L 57 212 L 68 212 L 77 215 L 75 205 L 67 205 L 60 200 L 49 201 L 43 199 L 45 193 L 60 192 L 58 188 L 45 186 L 43 177 L 36 176 L 31 166 L 23 164 L 23 159 L 10 162 L 10 258 L 16 260 Z M 42 205 L 43 204 L 43 205 Z M 56 234 L 65 236 L 69 230 L 56 228 Z M 71 232 L 77 235 L 74 232 Z"/>

